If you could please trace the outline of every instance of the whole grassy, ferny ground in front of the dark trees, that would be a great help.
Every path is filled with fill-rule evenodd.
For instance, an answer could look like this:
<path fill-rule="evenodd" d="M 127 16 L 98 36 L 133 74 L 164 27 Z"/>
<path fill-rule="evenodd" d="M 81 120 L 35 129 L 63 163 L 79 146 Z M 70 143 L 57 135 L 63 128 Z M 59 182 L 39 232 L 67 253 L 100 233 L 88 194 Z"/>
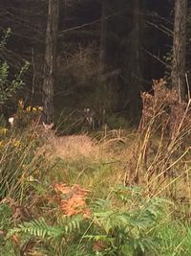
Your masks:
<path fill-rule="evenodd" d="M 132 129 L 0 147 L 0 255 L 191 255 L 188 148 Z"/>

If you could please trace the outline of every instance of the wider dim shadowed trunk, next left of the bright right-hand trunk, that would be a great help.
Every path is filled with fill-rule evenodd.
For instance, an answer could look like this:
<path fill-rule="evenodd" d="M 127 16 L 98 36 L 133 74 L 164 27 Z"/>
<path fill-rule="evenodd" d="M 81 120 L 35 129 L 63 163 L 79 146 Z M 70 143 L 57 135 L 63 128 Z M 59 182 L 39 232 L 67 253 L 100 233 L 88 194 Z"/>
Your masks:
<path fill-rule="evenodd" d="M 141 58 L 140 58 L 140 2 L 139 0 L 133 0 L 133 26 L 131 33 L 131 46 L 129 51 L 129 68 L 130 68 L 130 80 L 129 80 L 129 113 L 131 120 L 138 121 L 139 115 L 139 103 L 140 103 L 140 78 L 141 78 Z"/>

